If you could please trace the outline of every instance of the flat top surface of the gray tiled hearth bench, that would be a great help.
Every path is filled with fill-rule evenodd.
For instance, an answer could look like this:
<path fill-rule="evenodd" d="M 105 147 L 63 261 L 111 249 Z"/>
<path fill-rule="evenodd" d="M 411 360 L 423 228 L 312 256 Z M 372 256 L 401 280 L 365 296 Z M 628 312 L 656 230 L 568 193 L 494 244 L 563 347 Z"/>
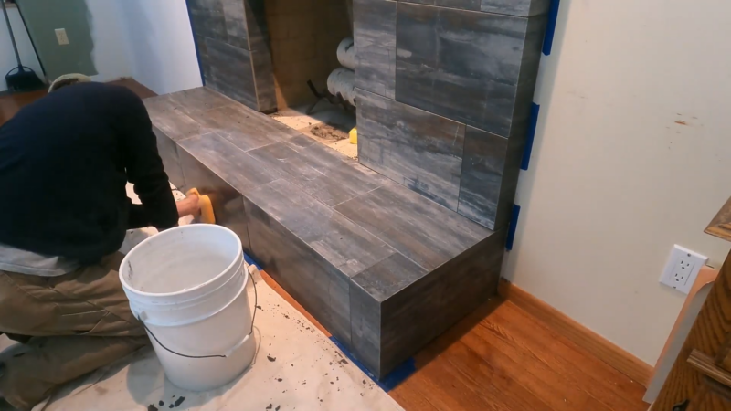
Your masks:
<path fill-rule="evenodd" d="M 216 91 L 144 102 L 155 127 L 348 277 L 394 254 L 429 271 L 493 234 Z"/>

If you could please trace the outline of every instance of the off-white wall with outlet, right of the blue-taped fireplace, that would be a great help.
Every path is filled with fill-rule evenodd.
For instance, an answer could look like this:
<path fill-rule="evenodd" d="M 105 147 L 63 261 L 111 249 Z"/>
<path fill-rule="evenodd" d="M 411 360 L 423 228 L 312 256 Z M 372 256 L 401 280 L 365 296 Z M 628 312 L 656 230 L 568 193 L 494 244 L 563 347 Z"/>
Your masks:
<path fill-rule="evenodd" d="M 649 364 L 683 305 L 658 282 L 673 244 L 716 267 L 729 249 L 703 233 L 731 195 L 728 16 L 726 0 L 561 0 L 542 60 L 503 272 Z"/>

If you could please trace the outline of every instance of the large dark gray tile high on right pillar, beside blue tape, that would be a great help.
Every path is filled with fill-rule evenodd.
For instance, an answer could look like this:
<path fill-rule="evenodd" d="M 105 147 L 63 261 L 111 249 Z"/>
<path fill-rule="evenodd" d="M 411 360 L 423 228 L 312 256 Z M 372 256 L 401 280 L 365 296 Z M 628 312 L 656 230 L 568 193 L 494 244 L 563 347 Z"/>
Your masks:
<path fill-rule="evenodd" d="M 396 100 L 507 137 L 516 111 L 530 110 L 518 83 L 535 81 L 524 53 L 542 38 L 526 18 L 399 2 Z"/>

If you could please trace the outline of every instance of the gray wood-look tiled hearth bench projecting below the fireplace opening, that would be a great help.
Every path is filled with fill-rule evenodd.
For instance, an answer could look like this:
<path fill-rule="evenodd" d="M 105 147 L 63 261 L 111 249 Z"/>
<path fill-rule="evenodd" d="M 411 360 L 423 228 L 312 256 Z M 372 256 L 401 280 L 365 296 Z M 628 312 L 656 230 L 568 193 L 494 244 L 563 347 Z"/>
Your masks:
<path fill-rule="evenodd" d="M 496 293 L 504 230 L 216 91 L 145 105 L 171 182 L 211 195 L 217 222 L 377 377 Z"/>

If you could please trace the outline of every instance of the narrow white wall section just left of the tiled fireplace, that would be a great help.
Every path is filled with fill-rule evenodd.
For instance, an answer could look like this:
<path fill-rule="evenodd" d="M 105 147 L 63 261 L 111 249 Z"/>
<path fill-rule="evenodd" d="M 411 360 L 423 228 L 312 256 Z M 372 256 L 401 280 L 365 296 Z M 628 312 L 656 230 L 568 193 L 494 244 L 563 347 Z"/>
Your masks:
<path fill-rule="evenodd" d="M 185 0 L 116 2 L 132 77 L 157 94 L 202 85 Z"/>

